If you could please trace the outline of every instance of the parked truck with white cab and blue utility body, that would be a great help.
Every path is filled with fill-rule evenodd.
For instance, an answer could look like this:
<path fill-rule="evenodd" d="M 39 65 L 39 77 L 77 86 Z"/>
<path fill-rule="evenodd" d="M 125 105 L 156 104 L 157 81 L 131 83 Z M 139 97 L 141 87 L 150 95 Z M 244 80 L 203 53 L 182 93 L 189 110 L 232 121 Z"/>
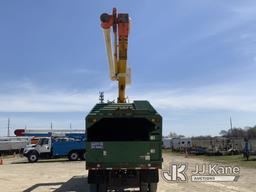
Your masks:
<path fill-rule="evenodd" d="M 28 145 L 23 155 L 31 163 L 38 159 L 68 157 L 70 161 L 85 159 L 85 134 L 75 137 L 41 137 L 37 144 Z"/>

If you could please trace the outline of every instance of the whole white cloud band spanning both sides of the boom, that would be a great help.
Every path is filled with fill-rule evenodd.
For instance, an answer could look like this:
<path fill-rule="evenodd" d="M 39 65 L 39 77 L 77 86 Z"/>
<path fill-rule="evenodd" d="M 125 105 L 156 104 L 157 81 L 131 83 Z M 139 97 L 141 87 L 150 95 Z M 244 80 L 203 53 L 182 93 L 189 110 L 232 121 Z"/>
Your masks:
<path fill-rule="evenodd" d="M 0 112 L 85 112 L 98 102 L 98 90 L 96 89 L 83 92 L 51 92 L 34 88 L 29 84 L 23 91 L 17 90 L 19 92 L 15 94 L 3 92 L 0 94 Z M 116 99 L 115 89 L 106 88 L 105 90 L 107 90 L 106 100 Z M 131 100 L 147 99 L 156 108 L 164 110 L 203 109 L 256 112 L 255 91 L 245 85 L 216 85 L 189 90 L 162 88 L 138 91 L 131 89 L 127 93 Z"/>

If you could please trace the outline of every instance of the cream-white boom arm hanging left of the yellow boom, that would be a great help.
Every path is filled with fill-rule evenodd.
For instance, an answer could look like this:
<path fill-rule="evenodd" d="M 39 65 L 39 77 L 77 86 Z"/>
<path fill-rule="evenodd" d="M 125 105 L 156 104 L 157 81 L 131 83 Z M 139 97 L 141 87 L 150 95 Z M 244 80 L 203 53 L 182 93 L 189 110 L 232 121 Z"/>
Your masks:
<path fill-rule="evenodd" d="M 106 50 L 107 50 L 107 55 L 108 55 L 110 79 L 116 80 L 116 72 L 115 72 L 115 67 L 114 67 L 114 62 L 113 62 L 113 54 L 112 54 L 112 41 L 111 41 L 111 35 L 110 35 L 110 28 L 103 29 L 103 32 L 104 32 Z"/>

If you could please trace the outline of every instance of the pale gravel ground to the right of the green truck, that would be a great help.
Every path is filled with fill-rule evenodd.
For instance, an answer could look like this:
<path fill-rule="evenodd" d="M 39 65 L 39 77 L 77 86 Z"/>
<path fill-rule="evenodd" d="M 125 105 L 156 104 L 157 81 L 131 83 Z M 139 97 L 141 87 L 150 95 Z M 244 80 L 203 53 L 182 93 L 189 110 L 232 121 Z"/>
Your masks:
<path fill-rule="evenodd" d="M 185 162 L 188 163 L 188 177 L 189 170 L 194 170 L 195 164 L 206 164 L 208 162 L 198 158 L 188 157 L 182 155 L 167 155 L 163 154 L 164 163 L 163 168 L 168 168 L 170 162 Z M 211 162 L 212 163 L 212 162 Z M 237 182 L 191 182 L 187 183 L 167 183 L 161 178 L 158 187 L 159 192 L 256 192 L 256 169 L 240 168 L 240 177 Z"/>

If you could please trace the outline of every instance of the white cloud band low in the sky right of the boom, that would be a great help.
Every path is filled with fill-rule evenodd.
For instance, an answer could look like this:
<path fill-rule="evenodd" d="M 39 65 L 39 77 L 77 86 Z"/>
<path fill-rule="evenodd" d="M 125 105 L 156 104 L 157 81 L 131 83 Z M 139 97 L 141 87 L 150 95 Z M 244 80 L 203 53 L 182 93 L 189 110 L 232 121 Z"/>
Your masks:
<path fill-rule="evenodd" d="M 157 91 L 146 93 L 144 97 L 162 109 L 184 110 L 228 110 L 256 112 L 255 94 L 235 90 L 221 90 L 221 87 L 198 88 L 187 91 Z M 140 98 L 143 98 L 140 97 Z"/>

